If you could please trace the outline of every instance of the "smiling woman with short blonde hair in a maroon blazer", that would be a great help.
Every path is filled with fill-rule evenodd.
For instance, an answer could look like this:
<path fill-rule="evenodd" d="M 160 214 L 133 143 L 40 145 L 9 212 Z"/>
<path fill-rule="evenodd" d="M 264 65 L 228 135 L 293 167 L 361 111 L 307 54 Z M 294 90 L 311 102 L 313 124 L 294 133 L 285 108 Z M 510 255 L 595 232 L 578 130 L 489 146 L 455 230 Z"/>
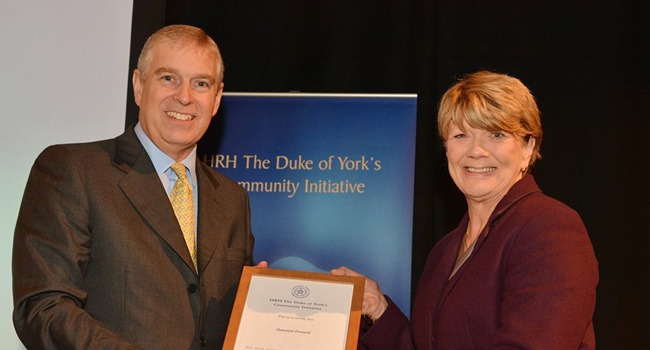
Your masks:
<path fill-rule="evenodd" d="M 470 74 L 442 97 L 438 132 L 467 213 L 430 252 L 410 322 L 366 279 L 359 348 L 593 349 L 597 262 L 579 215 L 530 175 L 542 128 L 528 89 Z"/>

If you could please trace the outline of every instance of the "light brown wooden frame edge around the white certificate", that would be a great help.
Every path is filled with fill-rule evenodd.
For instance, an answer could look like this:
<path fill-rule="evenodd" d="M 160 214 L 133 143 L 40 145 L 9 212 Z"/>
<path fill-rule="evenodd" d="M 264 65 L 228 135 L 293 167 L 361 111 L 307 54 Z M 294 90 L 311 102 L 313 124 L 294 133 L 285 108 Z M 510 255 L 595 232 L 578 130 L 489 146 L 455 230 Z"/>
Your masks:
<path fill-rule="evenodd" d="M 239 325 L 241 323 L 242 314 L 244 313 L 244 306 L 246 305 L 248 290 L 250 288 L 251 279 L 253 276 L 271 276 L 284 279 L 309 280 L 353 285 L 352 302 L 350 304 L 350 318 L 348 320 L 348 334 L 345 338 L 345 349 L 357 349 L 357 341 L 359 339 L 359 326 L 361 324 L 361 306 L 363 304 L 363 288 L 365 284 L 365 279 L 363 277 L 336 276 L 325 273 L 281 270 L 254 266 L 244 266 L 244 269 L 242 270 L 239 287 L 237 288 L 237 296 L 235 297 L 235 304 L 233 305 L 232 314 L 230 315 L 230 322 L 228 323 L 228 330 L 226 331 L 226 338 L 224 340 L 223 349 L 234 349 L 235 347 L 237 334 L 239 333 Z"/>

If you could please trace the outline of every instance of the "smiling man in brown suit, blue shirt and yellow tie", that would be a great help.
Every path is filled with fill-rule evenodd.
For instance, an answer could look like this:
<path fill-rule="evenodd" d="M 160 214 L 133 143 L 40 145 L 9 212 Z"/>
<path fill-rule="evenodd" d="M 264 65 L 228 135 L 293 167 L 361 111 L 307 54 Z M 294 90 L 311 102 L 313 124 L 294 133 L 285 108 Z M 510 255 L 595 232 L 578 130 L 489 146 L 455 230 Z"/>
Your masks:
<path fill-rule="evenodd" d="M 13 251 L 14 325 L 27 348 L 221 348 L 253 251 L 247 194 L 196 159 L 223 70 L 201 29 L 165 27 L 133 73 L 139 123 L 38 157 Z"/>

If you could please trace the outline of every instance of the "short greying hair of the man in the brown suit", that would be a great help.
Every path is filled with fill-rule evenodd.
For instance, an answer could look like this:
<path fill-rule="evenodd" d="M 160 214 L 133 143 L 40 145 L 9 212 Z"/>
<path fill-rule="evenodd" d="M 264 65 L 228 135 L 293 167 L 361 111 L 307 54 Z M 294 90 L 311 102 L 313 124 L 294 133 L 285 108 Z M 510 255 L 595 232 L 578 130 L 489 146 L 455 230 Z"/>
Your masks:
<path fill-rule="evenodd" d="M 163 27 L 153 33 L 144 43 L 140 57 L 138 57 L 138 70 L 142 80 L 146 79 L 147 76 L 152 49 L 158 44 L 177 45 L 178 47 L 193 45 L 197 49 L 205 50 L 217 62 L 217 82 L 223 81 L 224 65 L 217 43 L 203 29 L 182 24 Z"/>

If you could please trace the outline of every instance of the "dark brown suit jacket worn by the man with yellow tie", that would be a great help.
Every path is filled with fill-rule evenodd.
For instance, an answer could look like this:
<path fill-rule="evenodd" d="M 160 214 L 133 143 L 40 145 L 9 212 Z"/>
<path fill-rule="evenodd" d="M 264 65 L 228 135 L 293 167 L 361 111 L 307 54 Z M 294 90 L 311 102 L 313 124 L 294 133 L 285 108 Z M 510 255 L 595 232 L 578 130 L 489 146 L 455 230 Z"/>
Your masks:
<path fill-rule="evenodd" d="M 133 129 L 48 147 L 13 247 L 14 325 L 29 349 L 221 348 L 253 236 L 246 192 L 197 162 L 198 264 Z"/>

